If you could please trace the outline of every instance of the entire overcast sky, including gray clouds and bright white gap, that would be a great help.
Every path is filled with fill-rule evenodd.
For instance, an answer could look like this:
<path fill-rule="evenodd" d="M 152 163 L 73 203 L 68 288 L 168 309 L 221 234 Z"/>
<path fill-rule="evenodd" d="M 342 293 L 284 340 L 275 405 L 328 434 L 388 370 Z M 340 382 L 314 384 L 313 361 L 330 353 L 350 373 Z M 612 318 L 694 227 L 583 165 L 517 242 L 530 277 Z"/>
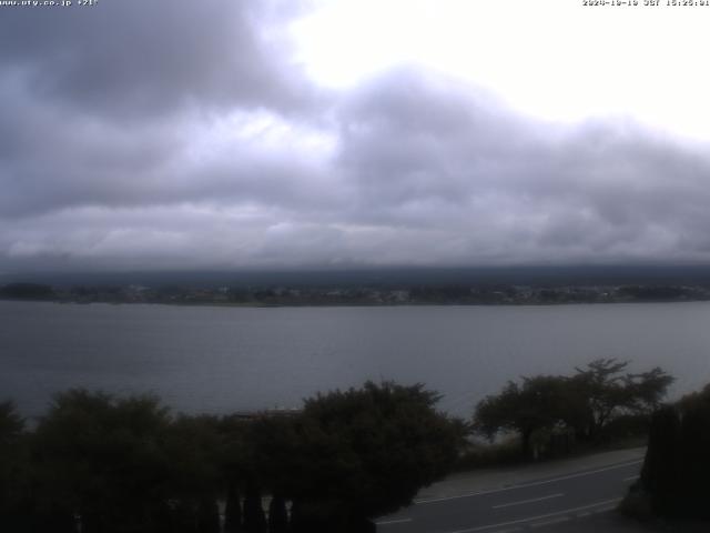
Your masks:
<path fill-rule="evenodd" d="M 0 7 L 0 272 L 710 262 L 710 7 L 639 3 Z"/>

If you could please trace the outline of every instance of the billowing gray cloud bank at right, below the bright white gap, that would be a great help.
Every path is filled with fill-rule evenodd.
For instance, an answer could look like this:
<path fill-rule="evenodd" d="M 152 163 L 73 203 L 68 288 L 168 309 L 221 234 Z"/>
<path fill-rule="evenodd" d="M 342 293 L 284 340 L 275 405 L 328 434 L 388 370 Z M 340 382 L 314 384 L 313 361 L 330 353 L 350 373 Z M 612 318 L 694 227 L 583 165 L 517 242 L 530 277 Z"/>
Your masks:
<path fill-rule="evenodd" d="M 450 261 L 703 255 L 707 145 L 622 119 L 532 121 L 406 69 L 363 88 L 342 120 L 339 163 L 368 205 L 361 214 L 437 230 Z"/>

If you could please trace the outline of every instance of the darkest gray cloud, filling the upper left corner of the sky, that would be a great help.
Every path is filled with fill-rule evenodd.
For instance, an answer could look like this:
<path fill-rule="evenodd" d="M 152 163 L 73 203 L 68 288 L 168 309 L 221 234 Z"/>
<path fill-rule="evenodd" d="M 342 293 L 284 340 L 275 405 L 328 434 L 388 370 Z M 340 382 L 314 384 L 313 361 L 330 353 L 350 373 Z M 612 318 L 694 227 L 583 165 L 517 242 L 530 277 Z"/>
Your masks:
<path fill-rule="evenodd" d="M 270 9 L 271 8 L 271 9 Z M 6 9 L 0 62 L 37 98 L 74 112 L 144 118 L 175 105 L 293 105 L 270 2 L 108 0 L 85 9 Z"/>

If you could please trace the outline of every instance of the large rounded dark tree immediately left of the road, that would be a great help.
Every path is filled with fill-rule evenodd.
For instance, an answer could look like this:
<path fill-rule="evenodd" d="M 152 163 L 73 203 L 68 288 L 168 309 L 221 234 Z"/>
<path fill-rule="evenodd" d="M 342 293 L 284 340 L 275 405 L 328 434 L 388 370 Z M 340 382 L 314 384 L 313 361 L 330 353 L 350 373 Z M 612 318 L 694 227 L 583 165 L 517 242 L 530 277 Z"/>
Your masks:
<path fill-rule="evenodd" d="M 444 476 L 463 440 L 463 424 L 438 413 L 424 385 L 367 382 L 306 400 L 293 421 L 297 443 L 286 462 L 297 484 L 293 530 L 364 531 L 366 519 L 412 502 Z"/>

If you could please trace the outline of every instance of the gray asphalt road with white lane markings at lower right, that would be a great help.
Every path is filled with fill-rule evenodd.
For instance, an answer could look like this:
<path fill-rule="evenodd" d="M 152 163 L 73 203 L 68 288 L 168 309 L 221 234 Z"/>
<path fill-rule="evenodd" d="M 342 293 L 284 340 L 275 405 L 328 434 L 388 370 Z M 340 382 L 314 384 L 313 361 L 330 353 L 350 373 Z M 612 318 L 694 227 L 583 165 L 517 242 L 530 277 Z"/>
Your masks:
<path fill-rule="evenodd" d="M 493 490 L 424 497 L 379 519 L 381 533 L 514 533 L 576 531 L 572 522 L 598 522 L 638 477 L 640 459 L 569 471 Z M 567 526 L 567 527 L 566 527 Z M 596 527 L 594 527 L 596 529 Z M 581 531 L 581 530 L 580 530 Z"/>

